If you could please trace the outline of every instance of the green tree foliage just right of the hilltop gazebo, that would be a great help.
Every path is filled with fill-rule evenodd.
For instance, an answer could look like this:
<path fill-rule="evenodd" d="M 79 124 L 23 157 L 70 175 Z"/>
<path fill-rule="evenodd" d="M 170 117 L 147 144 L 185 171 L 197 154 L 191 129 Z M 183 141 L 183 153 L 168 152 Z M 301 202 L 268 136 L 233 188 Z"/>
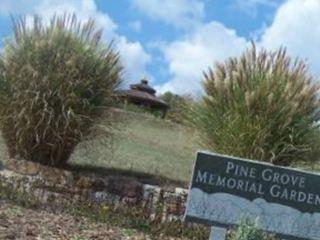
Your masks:
<path fill-rule="evenodd" d="M 163 101 L 169 105 L 166 118 L 176 123 L 184 123 L 186 112 L 193 104 L 193 99 L 189 95 L 178 95 L 172 92 L 165 92 L 160 95 Z"/>

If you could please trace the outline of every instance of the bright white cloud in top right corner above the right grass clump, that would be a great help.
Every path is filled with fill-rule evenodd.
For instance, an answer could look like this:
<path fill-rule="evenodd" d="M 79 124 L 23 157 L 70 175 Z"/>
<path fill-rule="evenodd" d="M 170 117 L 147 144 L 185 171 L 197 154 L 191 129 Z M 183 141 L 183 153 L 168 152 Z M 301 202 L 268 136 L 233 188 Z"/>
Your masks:
<path fill-rule="evenodd" d="M 307 58 L 313 73 L 320 74 L 320 1 L 290 0 L 279 7 L 273 23 L 261 37 L 268 49 L 285 46 L 289 54 Z"/>

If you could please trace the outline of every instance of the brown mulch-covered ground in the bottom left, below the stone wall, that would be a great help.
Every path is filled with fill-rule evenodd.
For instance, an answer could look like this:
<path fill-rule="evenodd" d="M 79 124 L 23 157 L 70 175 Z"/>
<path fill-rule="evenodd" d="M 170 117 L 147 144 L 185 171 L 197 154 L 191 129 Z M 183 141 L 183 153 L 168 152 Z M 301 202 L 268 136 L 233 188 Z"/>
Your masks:
<path fill-rule="evenodd" d="M 1 240 L 181 240 L 170 237 L 152 237 L 131 229 L 93 223 L 88 219 L 65 213 L 26 209 L 0 202 Z"/>

